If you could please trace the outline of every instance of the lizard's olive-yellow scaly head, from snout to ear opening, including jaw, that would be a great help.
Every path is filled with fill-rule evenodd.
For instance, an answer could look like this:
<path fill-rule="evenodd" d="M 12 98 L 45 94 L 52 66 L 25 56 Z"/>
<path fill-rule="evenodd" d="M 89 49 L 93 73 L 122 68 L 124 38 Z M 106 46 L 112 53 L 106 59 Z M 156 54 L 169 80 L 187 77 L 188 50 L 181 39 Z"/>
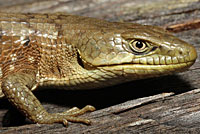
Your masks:
<path fill-rule="evenodd" d="M 162 28 L 121 27 L 93 31 L 83 39 L 78 51 L 85 69 L 130 81 L 184 71 L 197 58 L 192 45 Z"/>

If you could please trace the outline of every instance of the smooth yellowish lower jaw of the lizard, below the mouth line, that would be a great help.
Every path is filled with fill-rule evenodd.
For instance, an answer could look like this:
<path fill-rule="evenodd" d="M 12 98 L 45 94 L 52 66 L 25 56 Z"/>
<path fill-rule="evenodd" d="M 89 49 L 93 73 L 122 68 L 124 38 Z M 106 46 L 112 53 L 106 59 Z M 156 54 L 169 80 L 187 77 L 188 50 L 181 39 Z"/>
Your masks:
<path fill-rule="evenodd" d="M 124 78 L 127 77 L 130 78 L 130 80 L 135 80 L 169 75 L 174 72 L 183 72 L 193 64 L 194 62 L 186 62 L 172 65 L 124 64 L 117 66 L 104 66 L 99 67 L 99 69 L 113 72 L 116 76 L 121 75 Z"/>

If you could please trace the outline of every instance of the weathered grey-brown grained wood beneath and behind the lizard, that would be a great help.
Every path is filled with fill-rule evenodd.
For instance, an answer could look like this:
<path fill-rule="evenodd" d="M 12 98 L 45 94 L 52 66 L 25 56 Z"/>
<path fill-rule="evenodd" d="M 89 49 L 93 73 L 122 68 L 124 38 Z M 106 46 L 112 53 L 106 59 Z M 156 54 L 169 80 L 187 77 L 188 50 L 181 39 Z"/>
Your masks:
<path fill-rule="evenodd" d="M 0 11 L 66 12 L 109 21 L 158 25 L 176 32 L 176 36 L 190 42 L 200 52 L 198 0 L 0 0 Z M 91 126 L 69 123 L 65 128 L 61 124 L 18 122 L 23 118 L 16 113 L 11 114 L 14 117 L 8 117 L 12 106 L 6 100 L 0 100 L 0 133 L 199 133 L 199 74 L 198 58 L 187 72 L 176 75 L 94 91 L 49 89 L 35 92 L 49 112 L 61 112 L 66 107 L 87 104 L 95 106 L 97 111 L 83 116 L 92 120 Z M 174 94 L 162 94 L 164 92 Z M 9 123 L 13 118 L 11 122 L 20 125 Z"/>

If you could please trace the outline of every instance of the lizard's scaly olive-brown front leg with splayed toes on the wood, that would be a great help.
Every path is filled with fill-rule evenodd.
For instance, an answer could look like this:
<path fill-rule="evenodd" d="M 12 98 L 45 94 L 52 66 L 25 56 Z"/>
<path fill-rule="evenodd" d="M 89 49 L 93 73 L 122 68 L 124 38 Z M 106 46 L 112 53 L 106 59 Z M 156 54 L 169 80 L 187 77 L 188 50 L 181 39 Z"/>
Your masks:
<path fill-rule="evenodd" d="M 71 121 L 90 124 L 89 120 L 76 116 L 87 111 L 94 111 L 93 106 L 88 105 L 83 109 L 74 107 L 63 113 L 48 113 L 30 90 L 35 84 L 35 74 L 33 72 L 17 72 L 3 78 L 2 91 L 17 109 L 35 123 L 63 123 L 67 125 L 67 121 Z"/>

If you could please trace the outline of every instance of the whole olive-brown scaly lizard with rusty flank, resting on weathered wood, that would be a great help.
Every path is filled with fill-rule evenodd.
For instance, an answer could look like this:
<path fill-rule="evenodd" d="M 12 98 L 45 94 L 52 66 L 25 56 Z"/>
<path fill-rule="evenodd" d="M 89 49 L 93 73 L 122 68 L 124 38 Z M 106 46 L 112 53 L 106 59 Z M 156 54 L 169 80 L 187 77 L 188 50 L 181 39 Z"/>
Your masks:
<path fill-rule="evenodd" d="M 0 96 L 35 123 L 90 120 L 93 106 L 48 113 L 32 90 L 93 89 L 188 69 L 195 48 L 162 28 L 65 14 L 0 13 Z"/>

